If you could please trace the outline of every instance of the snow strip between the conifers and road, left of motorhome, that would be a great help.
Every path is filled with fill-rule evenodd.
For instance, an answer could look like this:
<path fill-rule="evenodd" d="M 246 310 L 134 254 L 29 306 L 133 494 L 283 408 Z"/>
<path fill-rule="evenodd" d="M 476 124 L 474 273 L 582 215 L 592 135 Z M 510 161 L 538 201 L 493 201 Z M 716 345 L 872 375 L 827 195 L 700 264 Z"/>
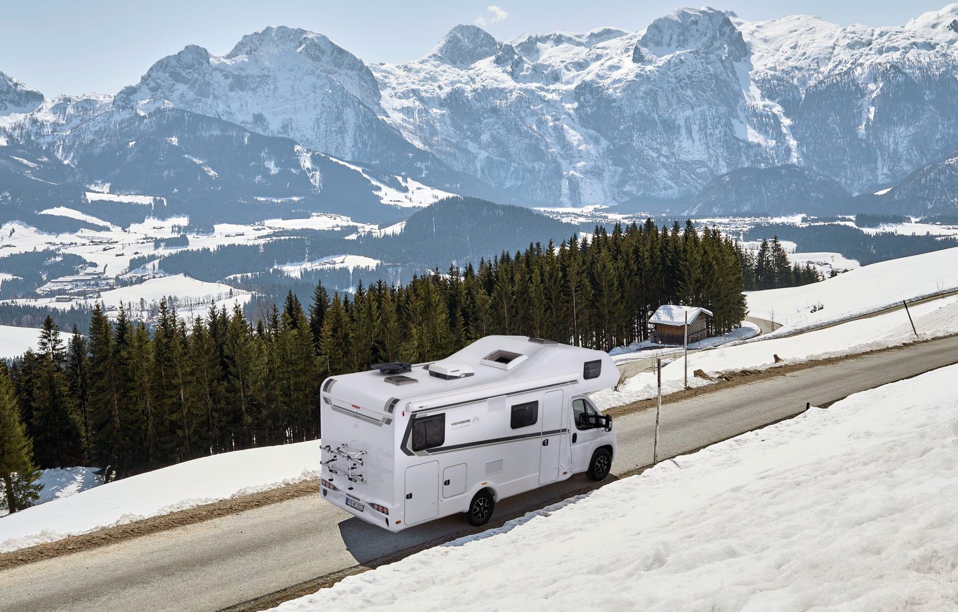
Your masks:
<path fill-rule="evenodd" d="M 90 488 L 0 518 L 0 553 L 319 476 L 320 441 L 238 450 Z"/>

